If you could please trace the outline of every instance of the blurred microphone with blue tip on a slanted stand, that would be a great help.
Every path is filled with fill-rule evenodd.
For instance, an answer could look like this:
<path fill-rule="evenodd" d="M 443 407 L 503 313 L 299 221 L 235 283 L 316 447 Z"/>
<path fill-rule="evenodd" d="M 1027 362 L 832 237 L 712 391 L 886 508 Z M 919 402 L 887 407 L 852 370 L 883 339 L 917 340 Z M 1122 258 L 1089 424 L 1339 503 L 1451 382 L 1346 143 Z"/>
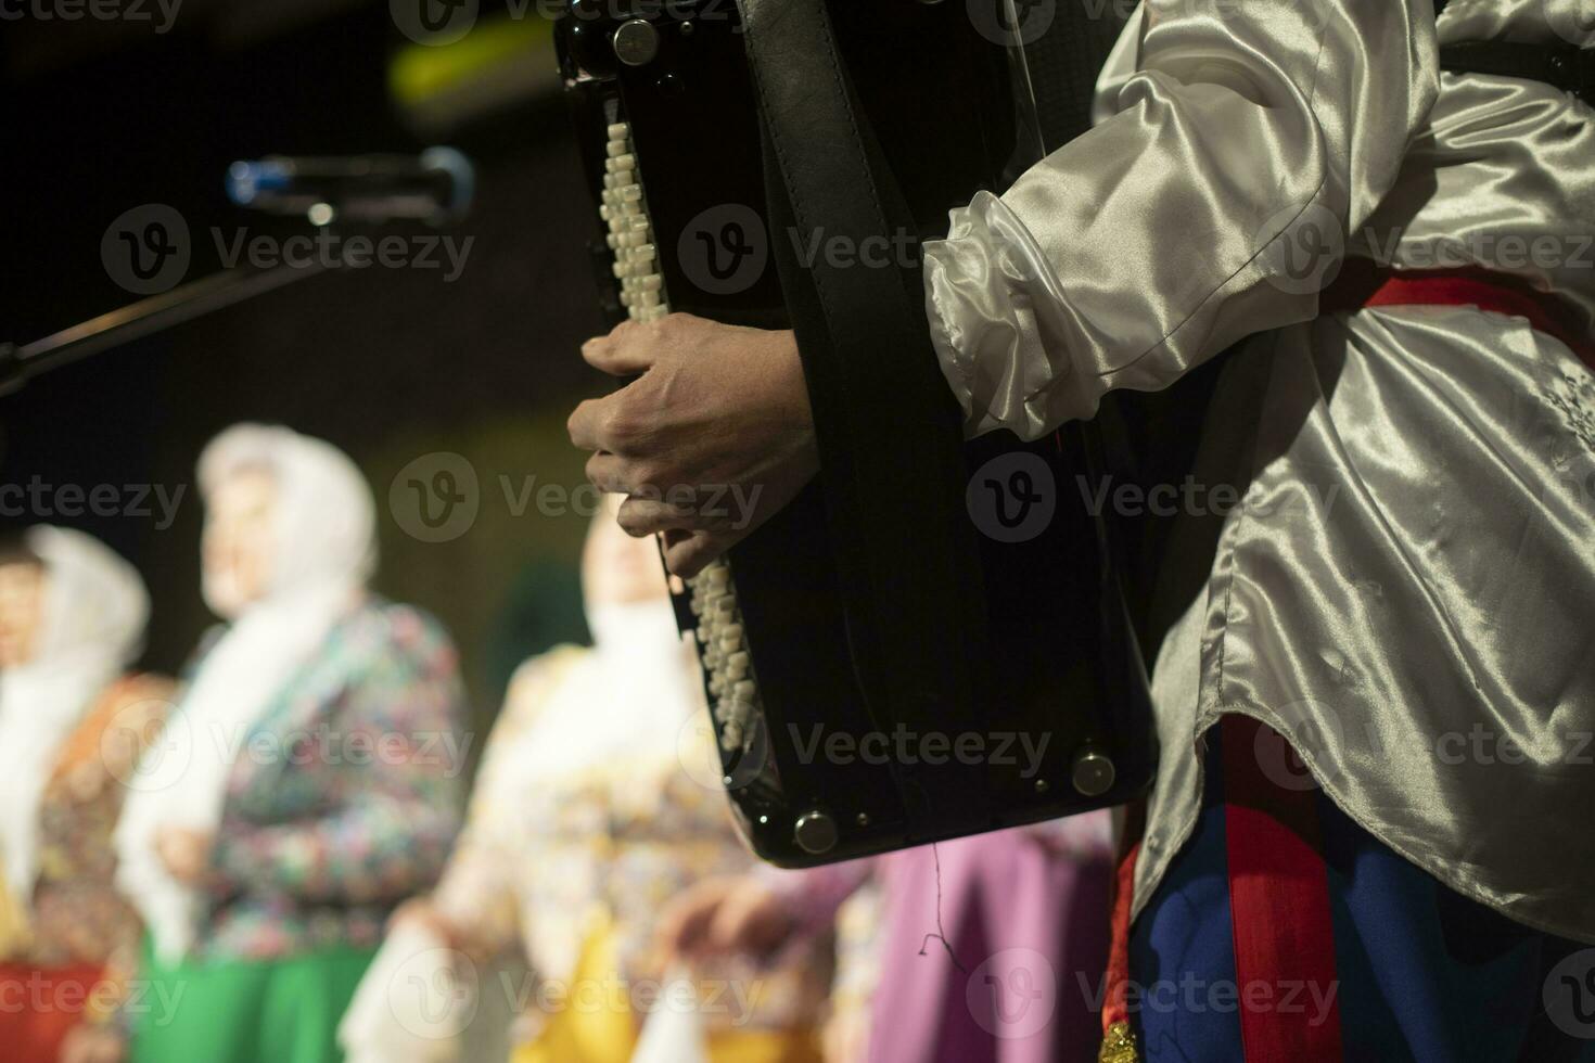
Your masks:
<path fill-rule="evenodd" d="M 455 148 L 421 155 L 341 155 L 239 159 L 226 167 L 226 196 L 241 207 L 381 223 L 455 222 L 471 210 L 475 169 Z"/>

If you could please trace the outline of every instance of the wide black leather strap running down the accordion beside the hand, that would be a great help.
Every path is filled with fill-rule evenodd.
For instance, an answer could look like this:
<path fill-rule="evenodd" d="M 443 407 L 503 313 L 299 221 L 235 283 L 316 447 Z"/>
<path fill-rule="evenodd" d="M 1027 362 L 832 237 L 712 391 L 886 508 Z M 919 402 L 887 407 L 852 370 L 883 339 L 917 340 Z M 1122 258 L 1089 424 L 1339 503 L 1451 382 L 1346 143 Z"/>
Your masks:
<path fill-rule="evenodd" d="M 782 233 L 772 252 L 809 379 L 853 666 L 861 688 L 893 701 L 871 706 L 877 720 L 928 733 L 946 724 L 938 706 L 973 704 L 970 663 L 983 660 L 986 633 L 981 614 L 949 609 L 979 598 L 979 569 L 962 497 L 947 491 L 967 478 L 960 416 L 933 354 L 924 280 L 825 255 L 801 266 L 785 239 L 791 226 L 860 247 L 914 231 L 912 217 L 853 94 L 826 0 L 740 6 Z M 924 623 L 931 617 L 944 623 Z M 906 795 L 920 790 L 916 768 L 895 770 Z M 971 770 L 957 805 L 911 802 L 911 834 L 983 829 L 979 779 Z"/>

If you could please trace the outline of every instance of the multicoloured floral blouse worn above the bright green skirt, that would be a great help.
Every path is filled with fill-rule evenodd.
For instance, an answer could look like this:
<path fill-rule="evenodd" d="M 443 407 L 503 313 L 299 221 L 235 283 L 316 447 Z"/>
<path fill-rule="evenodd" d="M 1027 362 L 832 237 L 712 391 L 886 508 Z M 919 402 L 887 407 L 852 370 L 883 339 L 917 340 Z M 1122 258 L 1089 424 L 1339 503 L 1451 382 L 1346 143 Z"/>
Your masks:
<path fill-rule="evenodd" d="M 443 630 L 370 601 L 239 746 L 196 958 L 375 948 L 459 827 L 464 692 Z"/>

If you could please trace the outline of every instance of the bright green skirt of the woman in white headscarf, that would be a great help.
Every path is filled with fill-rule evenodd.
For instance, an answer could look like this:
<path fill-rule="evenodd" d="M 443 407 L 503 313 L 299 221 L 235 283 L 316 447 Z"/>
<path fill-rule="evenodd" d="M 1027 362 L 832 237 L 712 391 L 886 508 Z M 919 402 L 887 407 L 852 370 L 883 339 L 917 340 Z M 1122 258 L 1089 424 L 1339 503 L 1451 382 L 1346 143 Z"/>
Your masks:
<path fill-rule="evenodd" d="M 338 1022 L 375 955 L 329 948 L 166 964 L 145 939 L 128 1001 L 132 1063 L 338 1063 Z"/>

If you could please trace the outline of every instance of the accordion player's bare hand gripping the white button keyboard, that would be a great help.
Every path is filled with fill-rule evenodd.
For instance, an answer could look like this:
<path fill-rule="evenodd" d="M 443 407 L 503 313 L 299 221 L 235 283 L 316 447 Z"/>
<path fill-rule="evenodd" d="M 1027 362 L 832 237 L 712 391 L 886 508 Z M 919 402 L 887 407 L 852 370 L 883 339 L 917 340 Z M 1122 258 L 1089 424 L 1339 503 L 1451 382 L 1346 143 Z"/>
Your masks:
<path fill-rule="evenodd" d="M 820 467 L 791 331 L 670 314 L 622 322 L 582 357 L 616 376 L 641 373 L 577 406 L 571 441 L 597 451 L 587 475 L 598 488 L 630 496 L 625 531 L 664 532 L 678 575 L 740 542 Z"/>

